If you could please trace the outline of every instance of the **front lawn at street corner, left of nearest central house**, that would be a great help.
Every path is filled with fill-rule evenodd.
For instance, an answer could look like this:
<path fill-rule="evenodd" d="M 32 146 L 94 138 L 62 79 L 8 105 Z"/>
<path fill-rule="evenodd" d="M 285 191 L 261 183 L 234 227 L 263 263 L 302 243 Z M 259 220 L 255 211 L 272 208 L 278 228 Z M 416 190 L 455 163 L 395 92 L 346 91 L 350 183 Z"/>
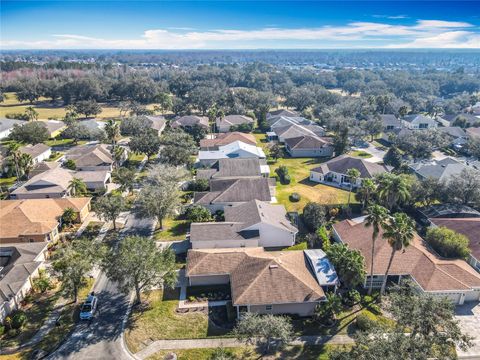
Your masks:
<path fill-rule="evenodd" d="M 206 313 L 177 313 L 178 298 L 179 289 L 143 294 L 147 308 L 143 308 L 145 305 L 135 307 L 125 330 L 130 351 L 136 353 L 148 343 L 160 339 L 199 339 L 228 333 L 228 330 L 209 321 Z"/>

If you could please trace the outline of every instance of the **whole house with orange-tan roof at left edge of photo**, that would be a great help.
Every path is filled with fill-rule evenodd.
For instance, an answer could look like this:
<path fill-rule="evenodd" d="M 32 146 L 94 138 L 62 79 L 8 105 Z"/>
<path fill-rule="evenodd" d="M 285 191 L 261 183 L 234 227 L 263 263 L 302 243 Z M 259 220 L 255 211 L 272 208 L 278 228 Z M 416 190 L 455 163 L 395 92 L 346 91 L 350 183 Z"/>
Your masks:
<path fill-rule="evenodd" d="M 0 200 L 0 243 L 54 241 L 65 209 L 82 223 L 90 212 L 90 198 Z"/>

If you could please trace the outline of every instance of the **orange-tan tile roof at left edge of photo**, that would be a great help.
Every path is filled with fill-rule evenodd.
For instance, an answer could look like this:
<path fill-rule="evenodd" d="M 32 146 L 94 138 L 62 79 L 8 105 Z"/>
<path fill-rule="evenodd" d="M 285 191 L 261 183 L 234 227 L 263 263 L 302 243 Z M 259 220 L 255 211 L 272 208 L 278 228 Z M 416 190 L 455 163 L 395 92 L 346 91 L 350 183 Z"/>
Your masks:
<path fill-rule="evenodd" d="M 66 208 L 80 212 L 89 203 L 90 198 L 0 200 L 0 239 L 47 234 Z"/>

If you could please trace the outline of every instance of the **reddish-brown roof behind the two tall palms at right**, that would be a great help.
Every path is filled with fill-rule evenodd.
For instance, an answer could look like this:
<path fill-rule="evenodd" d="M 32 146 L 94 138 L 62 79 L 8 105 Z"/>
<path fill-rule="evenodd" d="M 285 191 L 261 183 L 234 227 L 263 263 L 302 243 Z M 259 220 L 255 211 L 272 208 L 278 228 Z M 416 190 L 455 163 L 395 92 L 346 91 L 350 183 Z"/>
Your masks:
<path fill-rule="evenodd" d="M 336 223 L 333 229 L 343 243 L 362 253 L 366 271 L 369 274 L 372 227 L 366 227 L 362 217 Z M 383 230 L 380 229 L 375 243 L 373 267 L 373 273 L 377 275 L 385 274 L 392 252 L 392 247 L 382 236 Z M 438 257 L 417 234 L 409 246 L 396 252 L 389 274 L 410 275 L 424 291 L 442 292 L 480 288 L 480 274 L 470 265 L 464 260 Z"/>

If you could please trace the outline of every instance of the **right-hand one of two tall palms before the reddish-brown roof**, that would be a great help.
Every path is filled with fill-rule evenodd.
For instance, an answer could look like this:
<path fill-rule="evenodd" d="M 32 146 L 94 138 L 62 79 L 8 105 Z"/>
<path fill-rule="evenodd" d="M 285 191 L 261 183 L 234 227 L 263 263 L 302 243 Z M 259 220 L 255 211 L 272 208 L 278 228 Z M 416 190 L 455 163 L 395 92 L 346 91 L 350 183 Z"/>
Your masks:
<path fill-rule="evenodd" d="M 383 237 L 387 239 L 388 243 L 392 247 L 392 253 L 388 260 L 387 270 L 383 278 L 382 288 L 380 294 L 385 294 L 385 287 L 387 286 L 387 277 L 392 266 L 395 253 L 410 245 L 415 236 L 415 223 L 405 213 L 396 213 L 391 217 L 388 223 L 385 225 L 385 232 Z"/>

